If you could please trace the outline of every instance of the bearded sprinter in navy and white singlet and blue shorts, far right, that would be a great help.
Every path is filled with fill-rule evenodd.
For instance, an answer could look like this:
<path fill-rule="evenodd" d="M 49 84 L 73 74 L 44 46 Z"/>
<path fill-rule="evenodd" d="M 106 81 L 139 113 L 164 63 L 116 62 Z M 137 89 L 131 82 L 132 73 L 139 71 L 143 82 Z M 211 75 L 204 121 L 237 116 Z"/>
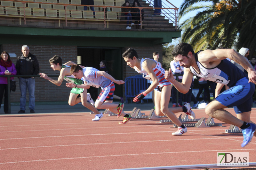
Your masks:
<path fill-rule="evenodd" d="M 205 113 L 222 122 L 240 127 L 244 136 L 241 146 L 250 143 L 256 129 L 250 120 L 256 71 L 248 60 L 244 60 L 244 56 L 233 49 L 204 50 L 195 54 L 191 45 L 187 43 L 178 44 L 172 55 L 179 61 L 180 66 L 185 67 L 182 82 L 174 79 L 171 69 L 165 71 L 164 77 L 179 92 L 188 92 L 194 74 L 229 87 L 207 105 Z M 248 76 L 226 58 L 243 66 Z M 224 110 L 227 107 L 234 107 L 237 118 Z"/>

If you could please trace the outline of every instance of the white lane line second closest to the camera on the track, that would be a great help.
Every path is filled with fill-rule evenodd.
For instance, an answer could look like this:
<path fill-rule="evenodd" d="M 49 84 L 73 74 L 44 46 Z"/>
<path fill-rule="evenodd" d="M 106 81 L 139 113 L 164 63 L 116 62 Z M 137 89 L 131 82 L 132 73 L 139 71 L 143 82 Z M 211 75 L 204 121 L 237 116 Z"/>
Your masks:
<path fill-rule="evenodd" d="M 241 137 L 230 137 L 241 138 Z M 19 148 L 4 148 L 0 150 L 13 150 L 13 149 L 30 149 L 30 148 L 47 148 L 47 147 L 62 147 L 62 146 L 82 146 L 82 145 L 98 145 L 98 144 L 124 144 L 124 143 L 146 143 L 146 142 L 167 142 L 167 141 L 184 141 L 184 140 L 208 140 L 213 138 L 195 138 L 195 139 L 168 139 L 168 140 L 150 140 L 150 141 L 129 141 L 129 142 L 108 142 L 108 143 L 92 143 L 92 144 L 65 144 L 65 145 L 51 145 L 51 146 L 31 146 L 31 147 L 19 147 Z M 220 139 L 220 138 L 217 138 Z"/>

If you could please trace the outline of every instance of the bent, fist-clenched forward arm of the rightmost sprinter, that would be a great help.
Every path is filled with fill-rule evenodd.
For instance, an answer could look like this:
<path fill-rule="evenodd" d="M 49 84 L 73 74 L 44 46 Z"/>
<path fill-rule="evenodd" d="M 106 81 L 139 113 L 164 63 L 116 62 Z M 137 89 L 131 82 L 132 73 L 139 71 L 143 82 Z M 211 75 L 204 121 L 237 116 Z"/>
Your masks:
<path fill-rule="evenodd" d="M 178 82 L 172 75 L 172 70 L 165 70 L 164 78 L 171 82 L 174 87 L 181 93 L 186 94 L 189 91 L 190 85 L 193 79 L 193 73 L 189 71 L 189 68 L 184 68 L 184 74 L 182 82 Z"/>

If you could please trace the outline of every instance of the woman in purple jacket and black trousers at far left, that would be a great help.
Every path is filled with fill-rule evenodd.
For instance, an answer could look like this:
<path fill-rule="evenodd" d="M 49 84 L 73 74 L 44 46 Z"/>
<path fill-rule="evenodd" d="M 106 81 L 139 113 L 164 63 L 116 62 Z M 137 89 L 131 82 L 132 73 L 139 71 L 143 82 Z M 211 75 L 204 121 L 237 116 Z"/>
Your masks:
<path fill-rule="evenodd" d="M 10 55 L 4 51 L 0 55 L 0 75 L 16 75 L 15 65 L 12 63 Z M 14 78 L 12 77 L 11 80 Z M 4 96 L 4 113 L 8 114 L 8 91 L 7 77 L 0 77 L 0 108 Z"/>

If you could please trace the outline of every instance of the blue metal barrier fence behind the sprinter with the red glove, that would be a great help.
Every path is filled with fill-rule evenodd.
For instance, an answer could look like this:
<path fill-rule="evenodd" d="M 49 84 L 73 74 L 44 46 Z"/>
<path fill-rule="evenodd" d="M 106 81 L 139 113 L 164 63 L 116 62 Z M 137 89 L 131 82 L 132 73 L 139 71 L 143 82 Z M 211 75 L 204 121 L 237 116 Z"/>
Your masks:
<path fill-rule="evenodd" d="M 124 82 L 126 103 L 128 99 L 132 102 L 132 99 L 140 94 L 141 90 L 145 91 L 150 85 L 149 80 L 143 78 L 142 75 L 127 77 Z"/>

